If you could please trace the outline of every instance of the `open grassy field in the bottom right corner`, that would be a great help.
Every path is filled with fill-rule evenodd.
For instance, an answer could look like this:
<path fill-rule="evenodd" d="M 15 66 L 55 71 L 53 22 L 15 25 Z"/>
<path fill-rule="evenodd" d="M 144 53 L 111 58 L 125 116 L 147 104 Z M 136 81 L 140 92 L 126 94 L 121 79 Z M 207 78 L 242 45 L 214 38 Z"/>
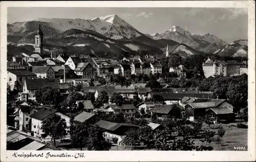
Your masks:
<path fill-rule="evenodd" d="M 218 129 L 210 129 L 211 131 L 218 131 Z M 234 147 L 245 147 L 247 151 L 247 133 L 248 129 L 239 129 L 237 127 L 225 127 L 225 134 L 223 136 L 223 141 L 211 142 L 210 146 L 214 148 L 215 151 L 234 151 Z M 216 136 L 217 138 L 217 136 Z M 202 142 L 195 140 L 196 145 L 201 145 Z M 242 150 L 241 150 L 242 151 Z"/>

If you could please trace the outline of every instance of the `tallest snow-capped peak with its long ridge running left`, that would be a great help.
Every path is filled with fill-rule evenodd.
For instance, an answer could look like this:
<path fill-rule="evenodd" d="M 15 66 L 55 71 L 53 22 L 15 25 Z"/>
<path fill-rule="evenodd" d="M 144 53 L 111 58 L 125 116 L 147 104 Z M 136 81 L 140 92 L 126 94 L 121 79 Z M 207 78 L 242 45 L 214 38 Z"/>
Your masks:
<path fill-rule="evenodd" d="M 113 39 L 125 39 L 142 35 L 142 33 L 116 14 L 95 17 L 93 19 L 39 18 L 37 20 L 51 22 L 51 25 L 60 31 L 89 29 Z"/>

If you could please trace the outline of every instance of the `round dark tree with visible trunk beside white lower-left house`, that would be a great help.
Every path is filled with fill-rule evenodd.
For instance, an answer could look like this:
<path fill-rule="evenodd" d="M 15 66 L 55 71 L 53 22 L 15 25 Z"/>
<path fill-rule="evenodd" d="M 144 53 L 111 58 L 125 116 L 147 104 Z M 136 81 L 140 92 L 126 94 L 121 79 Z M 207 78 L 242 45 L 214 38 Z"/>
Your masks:
<path fill-rule="evenodd" d="M 54 146 L 56 146 L 56 138 L 63 137 L 67 134 L 66 128 L 66 120 L 61 119 L 60 115 L 55 113 L 49 115 L 45 120 L 43 120 L 41 126 L 42 132 L 44 132 L 46 135 L 52 136 Z"/>

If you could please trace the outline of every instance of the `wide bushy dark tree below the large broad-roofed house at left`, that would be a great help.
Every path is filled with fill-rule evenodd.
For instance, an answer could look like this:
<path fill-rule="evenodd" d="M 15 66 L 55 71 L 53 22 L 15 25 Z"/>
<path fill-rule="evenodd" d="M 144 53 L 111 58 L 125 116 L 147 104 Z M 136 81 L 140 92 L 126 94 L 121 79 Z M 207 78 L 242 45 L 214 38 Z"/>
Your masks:
<path fill-rule="evenodd" d="M 42 87 L 35 92 L 36 101 L 44 105 L 59 104 L 60 92 L 57 89 Z"/>

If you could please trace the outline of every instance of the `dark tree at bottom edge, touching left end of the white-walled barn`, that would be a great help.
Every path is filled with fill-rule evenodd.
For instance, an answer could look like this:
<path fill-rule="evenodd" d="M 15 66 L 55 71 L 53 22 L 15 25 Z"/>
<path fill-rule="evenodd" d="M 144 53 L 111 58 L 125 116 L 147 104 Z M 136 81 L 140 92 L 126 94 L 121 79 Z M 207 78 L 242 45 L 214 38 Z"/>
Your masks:
<path fill-rule="evenodd" d="M 95 151 L 110 150 L 111 144 L 105 140 L 101 128 L 91 127 L 89 131 L 87 148 L 88 150 Z"/>

